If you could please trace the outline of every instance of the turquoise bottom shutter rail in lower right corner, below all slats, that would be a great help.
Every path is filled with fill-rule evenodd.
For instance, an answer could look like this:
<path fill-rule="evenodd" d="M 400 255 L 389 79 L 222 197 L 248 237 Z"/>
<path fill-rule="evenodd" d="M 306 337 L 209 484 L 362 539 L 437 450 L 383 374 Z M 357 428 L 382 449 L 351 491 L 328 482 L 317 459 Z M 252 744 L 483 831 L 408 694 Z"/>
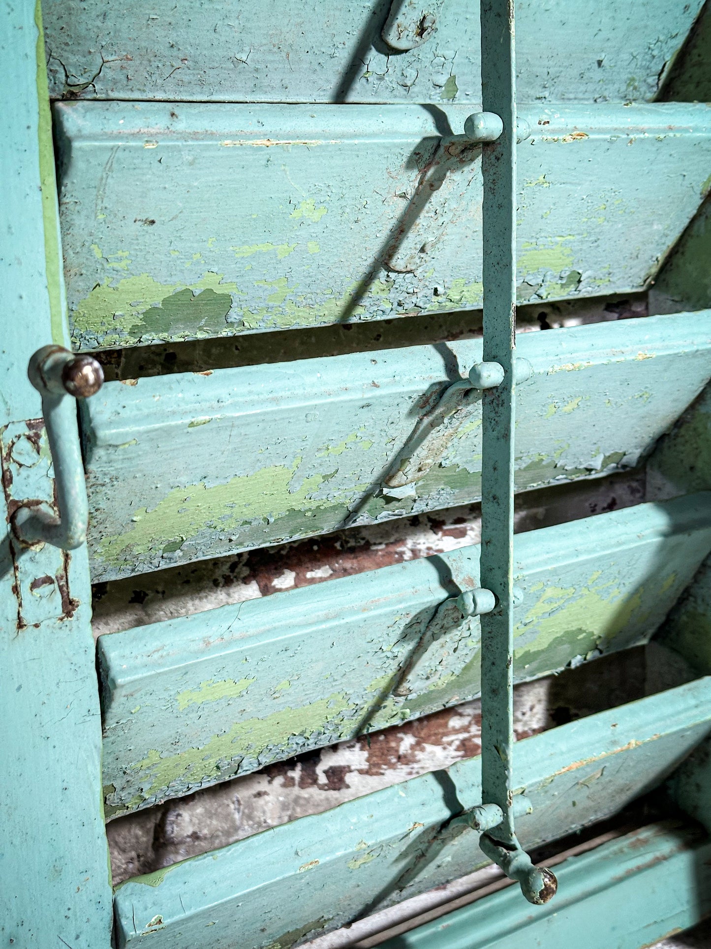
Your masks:
<path fill-rule="evenodd" d="M 644 949 L 711 911 L 711 845 L 698 828 L 652 824 L 556 866 L 556 903 L 531 911 L 511 887 L 382 949 Z M 512 936 L 512 934 L 515 934 Z"/>

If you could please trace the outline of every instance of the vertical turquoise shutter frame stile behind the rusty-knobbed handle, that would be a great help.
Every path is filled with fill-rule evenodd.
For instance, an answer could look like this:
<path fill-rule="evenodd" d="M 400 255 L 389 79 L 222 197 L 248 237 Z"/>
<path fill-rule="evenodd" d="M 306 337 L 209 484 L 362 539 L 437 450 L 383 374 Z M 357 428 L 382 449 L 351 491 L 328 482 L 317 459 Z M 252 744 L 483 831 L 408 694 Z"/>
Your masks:
<path fill-rule="evenodd" d="M 67 335 L 40 28 L 39 6 L 0 11 L 0 933 L 13 949 L 109 949 L 86 549 L 21 554 L 7 525 L 11 502 L 52 496 L 27 362 Z"/>

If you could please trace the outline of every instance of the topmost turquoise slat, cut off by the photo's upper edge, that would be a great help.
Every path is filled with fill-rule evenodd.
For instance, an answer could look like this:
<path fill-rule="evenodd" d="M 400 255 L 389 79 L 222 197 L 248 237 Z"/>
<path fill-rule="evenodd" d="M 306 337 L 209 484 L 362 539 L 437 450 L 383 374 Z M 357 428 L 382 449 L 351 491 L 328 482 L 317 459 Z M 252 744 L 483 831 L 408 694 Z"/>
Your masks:
<path fill-rule="evenodd" d="M 702 0 L 516 5 L 522 102 L 651 99 Z M 397 7 L 397 5 L 395 5 Z M 479 4 L 446 0 L 421 47 L 389 55 L 391 0 L 207 7 L 46 0 L 52 92 L 99 99 L 457 102 L 481 97 Z M 423 12 L 428 11 L 427 5 Z M 701 97 L 692 97 L 701 98 Z"/>

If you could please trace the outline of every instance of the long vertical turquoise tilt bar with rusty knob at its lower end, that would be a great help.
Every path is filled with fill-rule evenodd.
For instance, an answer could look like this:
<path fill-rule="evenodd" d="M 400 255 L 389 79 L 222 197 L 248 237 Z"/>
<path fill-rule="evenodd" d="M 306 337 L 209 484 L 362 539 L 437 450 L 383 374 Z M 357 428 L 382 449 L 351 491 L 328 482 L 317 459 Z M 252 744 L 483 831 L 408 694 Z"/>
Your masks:
<path fill-rule="evenodd" d="M 520 882 L 530 902 L 548 902 L 556 878 L 521 850 L 514 828 L 514 429 L 516 416 L 516 50 L 513 0 L 482 2 L 484 115 L 498 115 L 501 135 L 482 147 L 483 375 L 503 369 L 482 393 L 481 583 L 496 596 L 482 623 L 482 799 L 475 818 L 480 846 Z M 491 370 L 489 370 L 490 372 Z M 520 802 L 516 802 L 520 803 Z M 491 806 L 501 809 L 491 816 Z M 525 811 L 523 804 L 522 810 Z M 487 810 L 488 809 L 488 810 Z M 494 823 L 497 822 L 497 823 Z M 493 823 L 493 826 L 491 826 Z"/>

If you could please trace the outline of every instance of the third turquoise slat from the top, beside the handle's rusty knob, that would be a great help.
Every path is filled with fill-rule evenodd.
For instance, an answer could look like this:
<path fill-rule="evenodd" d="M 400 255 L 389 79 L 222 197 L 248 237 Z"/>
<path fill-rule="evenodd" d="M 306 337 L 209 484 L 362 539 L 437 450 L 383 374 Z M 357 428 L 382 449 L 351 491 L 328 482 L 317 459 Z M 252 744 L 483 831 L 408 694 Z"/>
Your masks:
<path fill-rule="evenodd" d="M 518 490 L 635 465 L 708 380 L 710 345 L 708 311 L 521 334 Z M 107 383 L 84 405 L 93 578 L 476 500 L 476 399 L 406 496 L 381 486 L 481 358 L 472 340 Z"/>

